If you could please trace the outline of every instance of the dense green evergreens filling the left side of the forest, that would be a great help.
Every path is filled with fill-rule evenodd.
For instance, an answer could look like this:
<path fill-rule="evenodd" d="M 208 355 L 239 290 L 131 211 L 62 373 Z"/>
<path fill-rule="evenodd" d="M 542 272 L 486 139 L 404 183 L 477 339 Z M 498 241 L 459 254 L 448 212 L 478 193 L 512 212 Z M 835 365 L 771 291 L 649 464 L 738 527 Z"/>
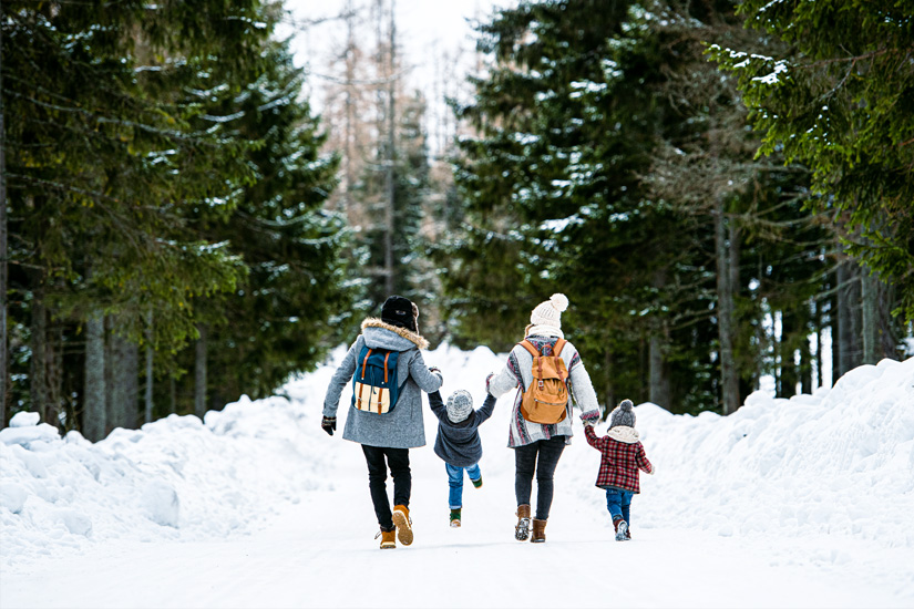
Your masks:
<path fill-rule="evenodd" d="M 233 400 L 308 369 L 335 340 L 331 316 L 351 299 L 346 233 L 319 210 L 335 161 L 318 156 L 301 73 L 270 40 L 279 9 L 4 2 L 16 410 L 64 413 L 97 440 L 136 424 L 137 343 L 168 381 L 198 328 L 223 329 L 209 384 Z M 91 380 L 109 411 L 124 409 L 97 430 L 88 351 L 105 362 Z"/>

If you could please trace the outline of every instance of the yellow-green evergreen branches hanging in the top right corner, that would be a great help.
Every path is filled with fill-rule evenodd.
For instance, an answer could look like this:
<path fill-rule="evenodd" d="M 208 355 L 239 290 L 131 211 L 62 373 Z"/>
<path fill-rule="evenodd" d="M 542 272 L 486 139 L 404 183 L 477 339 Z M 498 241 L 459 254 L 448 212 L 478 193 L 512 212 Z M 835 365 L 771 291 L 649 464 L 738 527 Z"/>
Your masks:
<path fill-rule="evenodd" d="M 812 171 L 818 195 L 871 272 L 894 283 L 914 319 L 914 7 L 907 0 L 748 0 L 747 24 L 789 43 L 779 53 L 711 47 L 735 72 L 762 135 Z"/>

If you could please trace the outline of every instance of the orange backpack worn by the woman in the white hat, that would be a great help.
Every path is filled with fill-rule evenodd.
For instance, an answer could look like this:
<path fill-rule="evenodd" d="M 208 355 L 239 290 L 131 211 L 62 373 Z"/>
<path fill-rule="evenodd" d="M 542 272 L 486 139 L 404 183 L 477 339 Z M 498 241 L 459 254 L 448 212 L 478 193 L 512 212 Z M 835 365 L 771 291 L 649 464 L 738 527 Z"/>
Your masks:
<path fill-rule="evenodd" d="M 568 370 L 559 358 L 567 341 L 558 339 L 552 355 L 542 355 L 528 340 L 518 342 L 533 355 L 533 380 L 524 391 L 521 414 L 532 423 L 550 425 L 565 420 L 568 405 Z"/>

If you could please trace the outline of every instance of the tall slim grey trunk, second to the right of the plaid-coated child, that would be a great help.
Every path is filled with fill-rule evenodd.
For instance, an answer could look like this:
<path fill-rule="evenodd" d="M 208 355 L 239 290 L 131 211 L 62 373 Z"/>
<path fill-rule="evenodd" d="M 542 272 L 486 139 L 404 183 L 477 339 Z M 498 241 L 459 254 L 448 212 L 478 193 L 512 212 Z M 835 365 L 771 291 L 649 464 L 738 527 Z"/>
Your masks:
<path fill-rule="evenodd" d="M 727 226 L 723 202 L 716 204 L 715 247 L 717 250 L 717 328 L 720 338 L 720 389 L 723 414 L 739 407 L 739 376 L 733 355 L 733 286 L 731 285 L 730 252 L 727 249 Z"/>

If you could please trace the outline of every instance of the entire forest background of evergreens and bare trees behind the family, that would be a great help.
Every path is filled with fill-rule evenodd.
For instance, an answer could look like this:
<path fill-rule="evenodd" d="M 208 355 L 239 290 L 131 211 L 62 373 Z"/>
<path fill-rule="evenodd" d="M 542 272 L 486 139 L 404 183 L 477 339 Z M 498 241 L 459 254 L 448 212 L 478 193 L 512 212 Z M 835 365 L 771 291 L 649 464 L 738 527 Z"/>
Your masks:
<path fill-rule="evenodd" d="M 431 87 L 394 2 L 3 2 L 3 425 L 268 395 L 391 293 L 495 352 L 566 293 L 606 406 L 914 354 L 914 2 L 521 1 Z"/>

